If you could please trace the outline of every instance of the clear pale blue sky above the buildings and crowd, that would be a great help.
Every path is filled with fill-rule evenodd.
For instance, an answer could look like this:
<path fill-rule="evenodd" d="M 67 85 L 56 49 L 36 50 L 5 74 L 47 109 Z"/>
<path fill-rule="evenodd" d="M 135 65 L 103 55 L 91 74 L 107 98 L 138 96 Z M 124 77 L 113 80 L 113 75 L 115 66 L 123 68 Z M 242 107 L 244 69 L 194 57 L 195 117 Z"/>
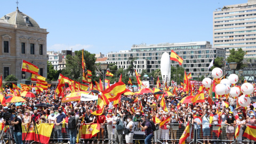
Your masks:
<path fill-rule="evenodd" d="M 0 17 L 16 1 L 1 1 Z M 60 1 L 20 0 L 19 10 L 47 28 L 47 51 L 130 50 L 133 44 L 210 41 L 213 11 L 247 0 Z"/>

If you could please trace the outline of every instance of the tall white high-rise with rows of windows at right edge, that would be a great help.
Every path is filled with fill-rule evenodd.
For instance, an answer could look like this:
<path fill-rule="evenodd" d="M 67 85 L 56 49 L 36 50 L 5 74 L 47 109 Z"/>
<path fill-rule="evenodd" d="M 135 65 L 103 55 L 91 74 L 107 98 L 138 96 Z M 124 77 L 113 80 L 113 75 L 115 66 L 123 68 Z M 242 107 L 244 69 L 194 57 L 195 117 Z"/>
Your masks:
<path fill-rule="evenodd" d="M 227 5 L 213 12 L 213 47 L 242 48 L 245 58 L 256 57 L 256 1 Z"/>

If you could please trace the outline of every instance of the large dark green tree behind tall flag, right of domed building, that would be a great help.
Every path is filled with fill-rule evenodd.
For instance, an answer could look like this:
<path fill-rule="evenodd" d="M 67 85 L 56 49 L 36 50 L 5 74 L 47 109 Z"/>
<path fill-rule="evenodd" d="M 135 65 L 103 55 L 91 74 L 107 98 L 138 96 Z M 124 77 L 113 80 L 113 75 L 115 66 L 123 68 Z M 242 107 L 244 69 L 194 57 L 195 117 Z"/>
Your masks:
<path fill-rule="evenodd" d="M 86 69 L 92 71 L 92 81 L 99 78 L 95 76 L 95 54 L 84 50 L 84 60 Z M 75 51 L 75 55 L 67 55 L 66 68 L 62 69 L 62 75 L 73 78 L 75 81 L 82 82 L 82 50 Z M 74 75 L 74 77 L 72 77 Z"/>

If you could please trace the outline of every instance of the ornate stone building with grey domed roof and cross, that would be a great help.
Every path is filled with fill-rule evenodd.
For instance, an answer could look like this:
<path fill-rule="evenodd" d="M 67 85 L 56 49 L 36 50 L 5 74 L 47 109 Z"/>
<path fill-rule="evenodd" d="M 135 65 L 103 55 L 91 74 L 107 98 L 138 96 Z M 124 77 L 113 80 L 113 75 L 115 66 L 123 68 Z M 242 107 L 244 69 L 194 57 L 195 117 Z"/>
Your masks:
<path fill-rule="evenodd" d="M 30 73 L 21 71 L 22 60 L 39 68 L 38 74 L 47 77 L 46 29 L 27 14 L 17 10 L 0 19 L 0 73 L 3 78 L 15 75 L 28 78 Z M 25 74 L 25 77 L 22 76 Z"/>

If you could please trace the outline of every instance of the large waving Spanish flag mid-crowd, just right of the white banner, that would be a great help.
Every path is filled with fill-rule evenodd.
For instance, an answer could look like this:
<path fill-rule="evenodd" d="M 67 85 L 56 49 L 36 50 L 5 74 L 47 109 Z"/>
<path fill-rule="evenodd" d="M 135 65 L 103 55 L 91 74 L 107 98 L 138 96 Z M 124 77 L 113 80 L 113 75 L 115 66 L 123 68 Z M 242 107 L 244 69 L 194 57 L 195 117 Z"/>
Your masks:
<path fill-rule="evenodd" d="M 106 98 L 111 101 L 116 101 L 121 97 L 121 94 L 126 92 L 126 86 L 123 82 L 118 82 L 106 89 L 102 92 L 103 95 L 106 96 Z M 115 102 L 114 102 L 115 103 Z M 118 103 L 118 102 L 117 102 Z M 113 104 L 114 105 L 114 104 Z"/>

